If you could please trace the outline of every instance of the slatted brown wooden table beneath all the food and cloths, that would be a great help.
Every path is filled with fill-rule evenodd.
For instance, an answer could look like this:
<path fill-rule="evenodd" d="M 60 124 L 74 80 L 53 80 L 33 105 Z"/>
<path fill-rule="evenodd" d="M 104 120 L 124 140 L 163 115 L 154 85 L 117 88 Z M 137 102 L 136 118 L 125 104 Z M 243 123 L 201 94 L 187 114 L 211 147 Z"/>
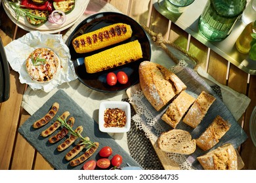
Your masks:
<path fill-rule="evenodd" d="M 180 27 L 154 9 L 150 0 L 102 0 L 102 6 L 110 3 L 118 10 L 131 16 L 140 24 L 147 25 L 156 33 L 163 33 L 165 39 L 174 42 L 193 53 L 200 61 L 200 66 L 213 76 L 219 83 L 229 86 L 237 92 L 244 93 L 251 99 L 246 112 L 238 120 L 248 135 L 238 151 L 244 161 L 244 169 L 256 169 L 256 147 L 249 134 L 249 118 L 256 104 L 256 76 L 248 75 L 226 59 L 211 51 L 207 46 L 197 41 Z M 90 5 L 90 4 L 89 4 Z M 14 24 L 5 11 L 0 7 L 0 36 L 4 46 L 14 39 L 28 33 Z M 60 32 L 65 35 L 66 31 Z M 26 91 L 26 84 L 21 84 L 18 73 L 11 70 L 10 98 L 0 103 L 0 169 L 53 169 L 33 147 L 17 132 L 30 114 L 21 107 L 22 95 Z"/>

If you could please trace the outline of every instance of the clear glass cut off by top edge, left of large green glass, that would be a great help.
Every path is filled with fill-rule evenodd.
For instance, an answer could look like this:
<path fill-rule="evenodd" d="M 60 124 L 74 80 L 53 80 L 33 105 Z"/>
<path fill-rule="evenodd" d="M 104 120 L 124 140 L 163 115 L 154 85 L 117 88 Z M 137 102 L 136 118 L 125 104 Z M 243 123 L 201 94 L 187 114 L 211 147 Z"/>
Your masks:
<path fill-rule="evenodd" d="M 165 0 L 165 7 L 174 13 L 182 13 L 194 0 Z"/>

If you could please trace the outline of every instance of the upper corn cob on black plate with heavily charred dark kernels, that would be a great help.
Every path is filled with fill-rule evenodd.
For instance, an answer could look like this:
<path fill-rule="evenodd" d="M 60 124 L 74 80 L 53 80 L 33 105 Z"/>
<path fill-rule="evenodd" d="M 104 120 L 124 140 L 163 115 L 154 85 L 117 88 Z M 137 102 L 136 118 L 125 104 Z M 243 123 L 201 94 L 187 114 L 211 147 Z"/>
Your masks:
<path fill-rule="evenodd" d="M 102 27 L 91 33 L 85 33 L 76 37 L 72 44 L 75 52 L 79 54 L 92 52 L 100 48 L 105 48 L 117 42 L 125 41 L 131 37 L 131 26 L 127 24 L 113 24 Z"/>

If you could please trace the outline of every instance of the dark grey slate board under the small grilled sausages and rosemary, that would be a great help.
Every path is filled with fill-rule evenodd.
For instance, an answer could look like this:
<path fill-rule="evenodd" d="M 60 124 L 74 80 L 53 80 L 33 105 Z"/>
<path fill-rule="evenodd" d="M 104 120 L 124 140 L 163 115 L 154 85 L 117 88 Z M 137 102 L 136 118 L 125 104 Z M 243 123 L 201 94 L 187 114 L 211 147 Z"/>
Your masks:
<path fill-rule="evenodd" d="M 53 120 L 49 122 L 49 124 L 39 128 L 39 129 L 34 129 L 32 127 L 33 122 L 36 120 L 42 118 L 49 109 L 52 107 L 54 102 L 58 102 L 60 104 L 60 109 L 58 110 L 56 116 L 54 116 Z M 90 104 L 88 104 L 90 105 Z M 68 110 L 70 112 L 70 118 L 73 116 L 75 118 L 75 123 L 73 126 L 73 129 L 78 127 L 79 125 L 83 125 L 83 132 L 81 135 L 83 137 L 88 136 L 90 137 L 91 141 L 93 142 L 99 142 L 100 146 L 98 150 L 91 156 L 87 161 L 91 159 L 99 159 L 98 151 L 100 148 L 103 146 L 111 146 L 113 150 L 112 156 L 115 154 L 120 154 L 123 157 L 123 163 L 121 167 L 126 167 L 127 164 L 131 166 L 137 166 L 141 167 L 137 161 L 135 161 L 117 142 L 108 135 L 108 133 L 102 133 L 98 129 L 98 124 L 91 118 L 87 112 L 85 112 L 73 99 L 71 99 L 64 91 L 59 90 L 56 92 L 39 110 L 37 110 L 26 122 L 24 122 L 23 125 L 21 125 L 18 129 L 19 133 L 28 141 L 30 144 L 37 149 L 37 151 L 54 167 L 54 169 L 59 169 L 59 170 L 66 170 L 66 169 L 82 169 L 83 164 L 81 163 L 80 165 L 76 167 L 71 167 L 69 165 L 69 161 L 66 161 L 65 155 L 75 146 L 75 144 L 79 141 L 75 141 L 72 146 L 70 146 L 68 149 L 64 150 L 63 152 L 58 152 L 56 149 L 58 144 L 63 142 L 67 137 L 62 139 L 59 142 L 56 142 L 55 144 L 51 144 L 48 142 L 49 137 L 55 135 L 60 131 L 61 128 L 59 128 L 57 131 L 53 133 L 53 135 L 50 135 L 49 137 L 42 137 L 41 136 L 41 131 L 47 129 L 49 125 L 53 124 L 53 122 L 60 116 L 64 111 Z M 83 154 L 86 149 L 84 149 L 80 154 L 78 154 L 75 158 Z M 112 156 L 109 157 L 109 159 L 112 158 Z"/>

